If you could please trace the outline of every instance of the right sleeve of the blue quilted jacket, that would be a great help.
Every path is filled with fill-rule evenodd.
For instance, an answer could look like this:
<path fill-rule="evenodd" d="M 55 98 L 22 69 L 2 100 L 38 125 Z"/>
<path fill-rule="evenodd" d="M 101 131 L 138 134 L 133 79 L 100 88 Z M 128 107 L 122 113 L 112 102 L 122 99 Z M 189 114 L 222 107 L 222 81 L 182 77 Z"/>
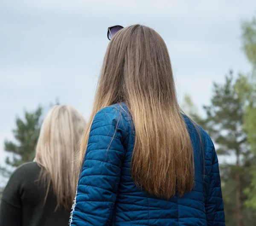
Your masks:
<path fill-rule="evenodd" d="M 225 226 L 224 206 L 221 192 L 221 177 L 218 158 L 211 141 L 211 169 L 209 171 L 209 187 L 205 202 L 207 226 Z"/>

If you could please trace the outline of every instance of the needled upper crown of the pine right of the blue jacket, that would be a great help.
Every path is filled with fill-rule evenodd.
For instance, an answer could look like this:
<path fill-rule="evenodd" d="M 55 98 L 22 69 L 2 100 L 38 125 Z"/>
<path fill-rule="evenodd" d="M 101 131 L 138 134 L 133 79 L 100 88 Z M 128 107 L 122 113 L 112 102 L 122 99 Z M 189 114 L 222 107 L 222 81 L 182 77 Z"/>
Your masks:
<path fill-rule="evenodd" d="M 223 85 L 214 83 L 211 104 L 204 109 L 207 113 L 205 129 L 218 144 L 217 153 L 240 157 L 248 148 L 244 146 L 247 139 L 243 130 L 244 99 L 235 89 L 239 81 L 234 81 L 230 72 Z"/>

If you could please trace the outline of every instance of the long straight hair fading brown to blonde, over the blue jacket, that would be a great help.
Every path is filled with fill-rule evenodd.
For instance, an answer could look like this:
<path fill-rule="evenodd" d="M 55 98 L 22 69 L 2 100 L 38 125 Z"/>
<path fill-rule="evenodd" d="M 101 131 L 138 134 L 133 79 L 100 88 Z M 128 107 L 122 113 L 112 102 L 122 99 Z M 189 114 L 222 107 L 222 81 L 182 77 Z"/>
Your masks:
<path fill-rule="evenodd" d="M 150 194 L 182 196 L 194 185 L 192 142 L 177 102 L 172 66 L 165 42 L 147 26 L 129 26 L 108 45 L 80 163 L 90 126 L 102 108 L 125 102 L 136 131 L 131 162 L 134 182 Z"/>

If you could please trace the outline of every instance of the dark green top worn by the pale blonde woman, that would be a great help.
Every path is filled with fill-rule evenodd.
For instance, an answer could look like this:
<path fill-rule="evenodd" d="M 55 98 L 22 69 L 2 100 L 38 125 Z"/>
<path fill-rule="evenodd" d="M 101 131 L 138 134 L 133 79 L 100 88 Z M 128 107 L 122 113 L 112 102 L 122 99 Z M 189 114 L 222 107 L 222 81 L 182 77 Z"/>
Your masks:
<path fill-rule="evenodd" d="M 40 171 L 36 162 L 29 162 L 12 174 L 1 199 L 0 226 L 68 226 L 71 207 L 55 211 L 52 187 L 44 205 L 46 189 L 36 181 Z"/>

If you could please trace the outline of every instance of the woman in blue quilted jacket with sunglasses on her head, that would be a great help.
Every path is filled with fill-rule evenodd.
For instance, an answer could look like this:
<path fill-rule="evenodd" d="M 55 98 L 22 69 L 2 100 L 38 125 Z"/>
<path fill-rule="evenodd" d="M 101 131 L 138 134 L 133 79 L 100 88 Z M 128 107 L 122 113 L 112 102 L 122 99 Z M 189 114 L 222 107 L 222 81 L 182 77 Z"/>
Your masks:
<path fill-rule="evenodd" d="M 166 44 L 146 26 L 114 28 L 70 225 L 224 226 L 215 148 L 180 109 Z"/>

